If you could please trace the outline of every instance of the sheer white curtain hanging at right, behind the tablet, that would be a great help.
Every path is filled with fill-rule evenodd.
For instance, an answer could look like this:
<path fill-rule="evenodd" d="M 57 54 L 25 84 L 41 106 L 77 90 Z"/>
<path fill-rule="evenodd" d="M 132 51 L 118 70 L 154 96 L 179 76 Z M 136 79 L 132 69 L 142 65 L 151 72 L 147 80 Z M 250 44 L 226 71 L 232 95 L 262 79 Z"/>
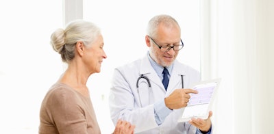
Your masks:
<path fill-rule="evenodd" d="M 201 73 L 221 77 L 214 133 L 273 133 L 274 1 L 201 1 Z"/>

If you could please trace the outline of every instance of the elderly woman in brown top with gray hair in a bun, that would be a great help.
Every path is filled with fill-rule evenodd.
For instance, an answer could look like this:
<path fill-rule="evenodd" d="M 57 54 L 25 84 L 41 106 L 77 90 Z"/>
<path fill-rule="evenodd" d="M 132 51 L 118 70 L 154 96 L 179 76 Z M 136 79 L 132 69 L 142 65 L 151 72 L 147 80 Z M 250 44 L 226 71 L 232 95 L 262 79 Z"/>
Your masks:
<path fill-rule="evenodd" d="M 51 45 L 68 64 L 47 92 L 40 108 L 39 133 L 101 133 L 86 82 L 101 71 L 103 36 L 93 23 L 77 20 L 51 34 Z M 119 120 L 114 133 L 134 133 L 135 126 Z"/>

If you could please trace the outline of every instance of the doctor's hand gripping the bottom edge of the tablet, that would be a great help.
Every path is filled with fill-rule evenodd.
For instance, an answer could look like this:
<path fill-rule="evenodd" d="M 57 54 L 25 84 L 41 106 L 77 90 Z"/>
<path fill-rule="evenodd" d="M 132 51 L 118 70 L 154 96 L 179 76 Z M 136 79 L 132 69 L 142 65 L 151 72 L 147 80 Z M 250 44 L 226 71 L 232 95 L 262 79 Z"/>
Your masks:
<path fill-rule="evenodd" d="M 211 127 L 211 120 L 210 117 L 212 116 L 212 111 L 210 111 L 208 115 L 208 119 L 203 120 L 201 118 L 192 118 L 189 123 L 196 126 L 200 131 L 208 132 Z"/>

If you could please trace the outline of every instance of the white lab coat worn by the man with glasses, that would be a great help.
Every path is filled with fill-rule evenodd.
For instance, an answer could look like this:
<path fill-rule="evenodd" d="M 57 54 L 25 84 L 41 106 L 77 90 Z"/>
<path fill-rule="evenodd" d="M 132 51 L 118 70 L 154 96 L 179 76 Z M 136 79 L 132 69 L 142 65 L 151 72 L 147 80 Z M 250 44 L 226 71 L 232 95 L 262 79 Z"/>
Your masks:
<path fill-rule="evenodd" d="M 145 75 L 149 79 L 151 88 L 145 79 L 140 79 L 138 94 L 136 82 L 140 75 Z M 173 110 L 159 126 L 155 122 L 153 103 L 164 100 L 173 90 L 182 88 L 181 75 L 184 76 L 184 88 L 190 88 L 190 84 L 201 80 L 197 70 L 175 60 L 169 87 L 165 91 L 162 80 L 152 68 L 147 55 L 116 68 L 109 98 L 110 114 L 114 124 L 118 119 L 127 120 L 136 125 L 135 133 L 195 133 L 197 128 L 188 122 L 177 123 L 184 108 Z"/>

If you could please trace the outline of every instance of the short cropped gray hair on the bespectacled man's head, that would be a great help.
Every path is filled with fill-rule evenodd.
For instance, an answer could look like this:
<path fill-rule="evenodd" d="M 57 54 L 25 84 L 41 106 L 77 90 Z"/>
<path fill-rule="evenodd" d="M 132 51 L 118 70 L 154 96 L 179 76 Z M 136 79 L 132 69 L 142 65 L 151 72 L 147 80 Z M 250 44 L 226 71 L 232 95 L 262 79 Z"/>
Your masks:
<path fill-rule="evenodd" d="M 158 36 L 157 35 L 158 26 L 161 23 L 164 23 L 164 25 L 166 25 L 166 27 L 169 27 L 171 25 L 177 25 L 179 27 L 179 24 L 177 23 L 175 18 L 173 18 L 172 16 L 169 16 L 169 15 L 166 15 L 166 14 L 161 14 L 161 15 L 154 16 L 153 18 L 151 18 L 151 20 L 149 21 L 149 23 L 147 25 L 147 35 L 150 36 L 151 38 L 155 38 L 156 36 Z"/>

